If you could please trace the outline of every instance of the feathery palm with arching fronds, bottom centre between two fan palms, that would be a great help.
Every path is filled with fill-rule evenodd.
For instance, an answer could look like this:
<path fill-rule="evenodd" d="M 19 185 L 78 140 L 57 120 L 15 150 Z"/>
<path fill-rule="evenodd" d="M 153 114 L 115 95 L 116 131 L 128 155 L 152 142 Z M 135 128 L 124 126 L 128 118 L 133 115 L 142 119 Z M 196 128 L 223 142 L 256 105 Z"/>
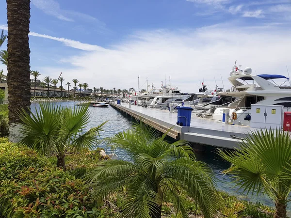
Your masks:
<path fill-rule="evenodd" d="M 128 158 L 101 161 L 88 172 L 95 195 L 106 198 L 120 193 L 120 217 L 161 218 L 163 202 L 173 202 L 176 216 L 188 217 L 183 195 L 188 195 L 200 206 L 205 218 L 217 213 L 217 192 L 214 176 L 205 163 L 196 161 L 193 149 L 184 140 L 172 144 L 166 134 L 140 122 L 108 140 Z M 180 216 L 179 216 L 180 217 Z"/>

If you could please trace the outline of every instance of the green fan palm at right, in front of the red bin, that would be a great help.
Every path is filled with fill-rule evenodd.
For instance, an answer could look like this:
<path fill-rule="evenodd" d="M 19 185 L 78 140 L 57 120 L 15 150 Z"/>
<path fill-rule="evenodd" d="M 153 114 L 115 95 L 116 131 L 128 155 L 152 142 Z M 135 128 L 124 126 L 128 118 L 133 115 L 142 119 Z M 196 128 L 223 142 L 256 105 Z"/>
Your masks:
<path fill-rule="evenodd" d="M 275 218 L 287 218 L 287 202 L 291 190 L 291 139 L 288 132 L 257 130 L 248 135 L 240 151 L 220 152 L 232 163 L 231 173 L 243 191 L 263 191 L 275 202 Z M 288 200 L 289 198 L 289 200 Z"/>

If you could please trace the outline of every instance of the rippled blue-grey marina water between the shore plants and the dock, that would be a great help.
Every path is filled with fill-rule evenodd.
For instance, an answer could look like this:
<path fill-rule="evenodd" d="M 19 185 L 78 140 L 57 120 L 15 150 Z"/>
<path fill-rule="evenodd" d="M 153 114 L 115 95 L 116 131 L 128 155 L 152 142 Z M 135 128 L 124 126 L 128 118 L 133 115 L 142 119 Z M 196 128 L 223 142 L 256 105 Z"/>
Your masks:
<path fill-rule="evenodd" d="M 77 102 L 58 102 L 56 104 L 71 106 L 74 107 Z M 35 108 L 39 108 L 38 103 L 32 103 L 31 105 L 32 112 L 35 111 Z M 105 125 L 102 132 L 100 132 L 100 139 L 104 139 L 106 137 L 111 137 L 115 133 L 120 131 L 124 131 L 126 129 L 132 128 L 132 123 L 134 119 L 130 118 L 130 116 L 125 116 L 119 111 L 113 109 L 111 106 L 108 108 L 93 108 L 89 107 L 90 111 L 90 122 L 85 130 L 88 130 L 92 127 L 95 127 L 105 121 L 108 121 Z M 172 140 L 171 138 L 167 138 L 167 140 Z M 110 153 L 109 150 L 104 147 L 104 145 L 100 144 L 100 147 L 105 148 L 107 153 Z M 252 202 L 263 202 L 266 205 L 274 207 L 274 203 L 266 196 L 245 196 L 242 194 L 238 188 L 234 187 L 233 179 L 230 175 L 224 175 L 222 171 L 229 168 L 230 163 L 223 160 L 220 156 L 217 155 L 216 147 L 208 146 L 208 145 L 200 145 L 200 144 L 192 144 L 192 147 L 195 151 L 195 156 L 197 160 L 204 161 L 207 163 L 213 170 L 216 182 L 217 189 L 221 191 L 225 191 L 230 195 L 237 196 L 239 199 L 252 201 Z M 118 151 L 117 151 L 118 153 Z M 290 216 L 291 214 L 289 214 Z"/>

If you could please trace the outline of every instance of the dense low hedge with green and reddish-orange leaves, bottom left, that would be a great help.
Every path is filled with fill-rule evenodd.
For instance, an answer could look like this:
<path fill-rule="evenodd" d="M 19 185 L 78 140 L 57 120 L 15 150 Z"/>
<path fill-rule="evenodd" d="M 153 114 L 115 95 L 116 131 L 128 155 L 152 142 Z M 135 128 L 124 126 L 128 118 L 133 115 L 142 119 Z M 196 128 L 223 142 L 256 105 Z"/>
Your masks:
<path fill-rule="evenodd" d="M 0 217 L 105 218 L 81 179 L 0 139 Z"/>

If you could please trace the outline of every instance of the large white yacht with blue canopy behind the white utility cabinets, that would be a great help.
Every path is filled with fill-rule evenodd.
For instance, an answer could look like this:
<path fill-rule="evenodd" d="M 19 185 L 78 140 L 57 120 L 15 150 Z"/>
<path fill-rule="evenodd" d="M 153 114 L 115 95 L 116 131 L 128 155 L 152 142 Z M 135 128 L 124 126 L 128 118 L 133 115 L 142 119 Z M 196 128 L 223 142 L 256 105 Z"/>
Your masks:
<path fill-rule="evenodd" d="M 213 120 L 222 120 L 223 110 L 229 109 L 229 114 L 236 113 L 236 124 L 250 125 L 251 105 L 282 105 L 285 110 L 291 109 L 291 85 L 289 78 L 277 74 L 252 74 L 247 67 L 242 71 L 234 65 L 230 72 L 229 82 L 232 84 L 230 92 L 219 92 L 221 97 L 235 98 L 224 107 L 217 107 L 213 113 Z"/>

